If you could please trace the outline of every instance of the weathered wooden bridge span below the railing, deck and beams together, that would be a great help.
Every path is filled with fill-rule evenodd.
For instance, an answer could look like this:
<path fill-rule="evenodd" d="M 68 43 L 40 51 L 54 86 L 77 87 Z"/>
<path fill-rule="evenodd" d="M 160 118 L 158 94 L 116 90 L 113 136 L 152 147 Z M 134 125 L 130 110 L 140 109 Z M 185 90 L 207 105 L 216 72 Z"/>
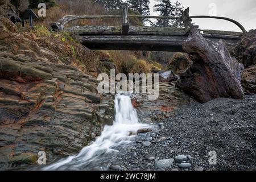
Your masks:
<path fill-rule="evenodd" d="M 183 52 L 182 45 L 187 39 L 184 28 L 172 27 L 134 27 L 122 35 L 121 26 L 83 26 L 69 27 L 80 42 L 90 49 L 123 49 L 145 51 Z M 200 30 L 203 31 L 203 30 Z M 203 36 L 213 42 L 226 40 L 228 46 L 234 46 L 240 40 L 240 32 L 203 31 Z"/>

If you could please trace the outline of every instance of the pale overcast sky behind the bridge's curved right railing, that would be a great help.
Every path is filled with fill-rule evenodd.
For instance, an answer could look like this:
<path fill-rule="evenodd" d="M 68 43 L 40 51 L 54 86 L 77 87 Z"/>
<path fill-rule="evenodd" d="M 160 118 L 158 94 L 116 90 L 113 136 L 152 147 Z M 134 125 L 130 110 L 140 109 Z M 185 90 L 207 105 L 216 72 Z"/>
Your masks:
<path fill-rule="evenodd" d="M 191 16 L 214 13 L 215 4 L 217 16 L 225 16 L 237 20 L 246 30 L 256 29 L 256 0 L 179 0 L 179 2 L 184 8 L 189 7 L 189 15 Z M 157 15 L 153 11 L 155 3 L 154 0 L 150 0 L 151 15 Z M 201 29 L 241 31 L 236 24 L 226 20 L 197 18 L 193 19 L 193 22 L 199 25 Z"/>

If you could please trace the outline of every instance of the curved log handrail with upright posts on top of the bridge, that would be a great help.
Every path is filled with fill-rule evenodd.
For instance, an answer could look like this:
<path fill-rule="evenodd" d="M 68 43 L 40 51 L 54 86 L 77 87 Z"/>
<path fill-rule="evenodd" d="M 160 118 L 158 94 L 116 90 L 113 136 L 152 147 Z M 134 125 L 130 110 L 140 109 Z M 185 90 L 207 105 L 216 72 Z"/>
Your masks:
<path fill-rule="evenodd" d="M 189 8 L 182 11 L 182 16 L 180 17 L 173 17 L 173 16 L 150 16 L 150 15 L 134 15 L 134 14 L 128 14 L 128 6 L 123 7 L 123 14 L 122 15 L 66 15 L 63 16 L 63 18 L 59 19 L 55 23 L 51 23 L 51 30 L 53 31 L 63 31 L 65 24 L 73 21 L 73 20 L 79 20 L 79 19 L 104 19 L 104 18 L 122 18 L 122 34 L 128 34 L 129 33 L 129 18 L 146 18 L 146 19 L 172 19 L 172 20 L 181 20 L 184 23 L 185 32 L 188 32 L 190 28 L 194 27 L 192 25 L 192 19 L 193 18 L 213 18 L 213 19 L 223 19 L 227 20 L 229 22 L 232 22 L 236 24 L 243 33 L 246 32 L 245 28 L 238 23 L 236 20 L 221 17 L 221 16 L 189 16 Z M 204 30 L 205 31 L 205 30 Z M 210 31 L 205 31 L 210 33 Z M 215 33 L 219 34 L 228 34 L 228 35 L 241 35 L 239 32 L 228 32 L 228 31 L 214 31 Z"/>

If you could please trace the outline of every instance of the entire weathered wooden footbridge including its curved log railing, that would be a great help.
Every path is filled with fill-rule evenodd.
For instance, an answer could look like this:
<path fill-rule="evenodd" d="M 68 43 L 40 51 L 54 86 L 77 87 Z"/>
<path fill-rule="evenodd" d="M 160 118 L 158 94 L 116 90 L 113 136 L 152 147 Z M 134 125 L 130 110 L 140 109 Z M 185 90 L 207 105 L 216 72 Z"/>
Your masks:
<path fill-rule="evenodd" d="M 65 24 L 77 19 L 122 18 L 122 26 L 75 26 L 65 28 Z M 157 18 L 182 20 L 184 28 L 130 26 L 129 18 Z M 191 22 L 193 18 L 224 19 L 236 24 L 242 32 L 200 30 Z M 224 39 L 228 46 L 234 46 L 246 32 L 236 20 L 219 16 L 189 16 L 189 8 L 182 11 L 181 17 L 129 15 L 125 6 L 122 15 L 67 15 L 51 24 L 54 31 L 72 32 L 81 44 L 89 49 L 142 50 L 184 52 L 182 45 L 188 38 L 191 28 L 198 28 L 201 34 L 213 42 Z"/>

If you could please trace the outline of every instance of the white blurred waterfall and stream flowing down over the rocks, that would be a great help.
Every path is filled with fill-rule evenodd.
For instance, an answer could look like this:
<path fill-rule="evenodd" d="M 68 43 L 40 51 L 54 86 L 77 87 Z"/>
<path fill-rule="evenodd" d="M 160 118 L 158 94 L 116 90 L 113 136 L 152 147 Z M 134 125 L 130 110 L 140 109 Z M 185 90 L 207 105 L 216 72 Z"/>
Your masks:
<path fill-rule="evenodd" d="M 129 96 L 117 94 L 114 101 L 115 120 L 112 126 L 105 126 L 95 142 L 82 148 L 76 156 L 69 156 L 56 163 L 44 167 L 44 170 L 92 170 L 107 169 L 114 154 L 130 144 L 138 129 L 148 127 L 139 123 L 137 112 L 131 104 Z"/>

